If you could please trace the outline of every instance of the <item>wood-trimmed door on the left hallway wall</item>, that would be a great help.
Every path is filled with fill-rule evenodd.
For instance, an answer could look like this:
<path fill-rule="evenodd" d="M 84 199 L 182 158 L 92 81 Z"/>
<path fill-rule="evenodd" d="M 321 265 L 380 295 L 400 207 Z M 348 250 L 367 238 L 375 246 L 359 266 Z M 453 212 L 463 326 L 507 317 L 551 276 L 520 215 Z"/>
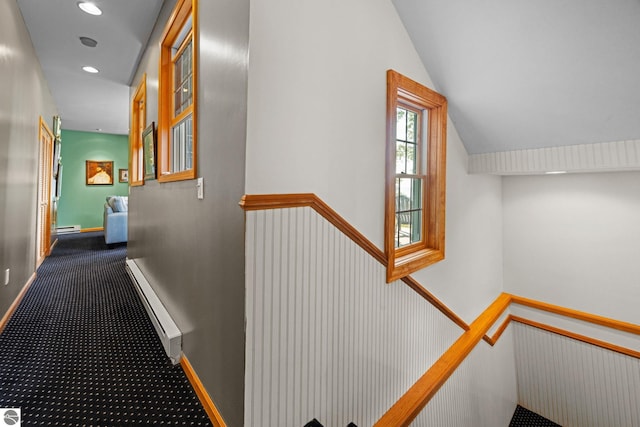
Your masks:
<path fill-rule="evenodd" d="M 40 155 L 38 160 L 38 219 L 36 226 L 36 268 L 51 249 L 51 172 L 53 167 L 53 133 L 40 117 L 38 131 Z"/>

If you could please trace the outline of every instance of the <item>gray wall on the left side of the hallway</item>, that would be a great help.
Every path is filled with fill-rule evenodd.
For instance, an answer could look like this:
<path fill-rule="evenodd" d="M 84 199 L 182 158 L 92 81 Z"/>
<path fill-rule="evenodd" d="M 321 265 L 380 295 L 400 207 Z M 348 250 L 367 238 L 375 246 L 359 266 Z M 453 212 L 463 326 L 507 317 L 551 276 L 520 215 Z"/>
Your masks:
<path fill-rule="evenodd" d="M 35 271 L 38 120 L 57 114 L 15 0 L 0 2 L 0 76 L 1 317 Z"/>

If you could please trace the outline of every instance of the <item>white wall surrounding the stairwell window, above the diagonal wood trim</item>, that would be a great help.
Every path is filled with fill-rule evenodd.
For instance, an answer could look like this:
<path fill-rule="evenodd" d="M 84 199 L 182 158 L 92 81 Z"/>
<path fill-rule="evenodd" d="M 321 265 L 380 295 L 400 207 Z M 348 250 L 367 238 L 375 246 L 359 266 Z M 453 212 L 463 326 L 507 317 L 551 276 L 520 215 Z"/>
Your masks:
<path fill-rule="evenodd" d="M 250 39 L 246 192 L 316 193 L 383 248 L 386 70 L 433 87 L 392 3 L 254 1 Z M 501 184 L 448 144 L 447 259 L 415 277 L 470 322 L 502 291 Z"/>

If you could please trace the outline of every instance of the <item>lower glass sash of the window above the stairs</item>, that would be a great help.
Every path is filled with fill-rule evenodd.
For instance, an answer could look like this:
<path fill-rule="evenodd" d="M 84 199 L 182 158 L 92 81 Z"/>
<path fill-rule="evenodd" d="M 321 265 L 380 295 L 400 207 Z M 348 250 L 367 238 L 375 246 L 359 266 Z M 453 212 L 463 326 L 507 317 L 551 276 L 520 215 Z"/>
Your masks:
<path fill-rule="evenodd" d="M 396 178 L 396 248 L 422 240 L 422 178 Z"/>

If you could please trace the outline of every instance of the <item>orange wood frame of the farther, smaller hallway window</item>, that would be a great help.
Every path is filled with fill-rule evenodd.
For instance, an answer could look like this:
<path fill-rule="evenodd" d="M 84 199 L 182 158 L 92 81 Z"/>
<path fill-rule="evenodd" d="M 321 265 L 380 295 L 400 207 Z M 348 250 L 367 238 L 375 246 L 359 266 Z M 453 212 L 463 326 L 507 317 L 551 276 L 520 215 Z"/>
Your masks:
<path fill-rule="evenodd" d="M 142 113 L 138 105 L 142 103 Z M 129 186 L 144 185 L 144 152 L 142 132 L 140 130 L 140 115 L 143 123 L 147 123 L 147 74 L 143 74 L 140 84 L 136 88 L 131 101 L 131 131 L 129 134 Z M 144 127 L 143 126 L 143 129 Z"/>

